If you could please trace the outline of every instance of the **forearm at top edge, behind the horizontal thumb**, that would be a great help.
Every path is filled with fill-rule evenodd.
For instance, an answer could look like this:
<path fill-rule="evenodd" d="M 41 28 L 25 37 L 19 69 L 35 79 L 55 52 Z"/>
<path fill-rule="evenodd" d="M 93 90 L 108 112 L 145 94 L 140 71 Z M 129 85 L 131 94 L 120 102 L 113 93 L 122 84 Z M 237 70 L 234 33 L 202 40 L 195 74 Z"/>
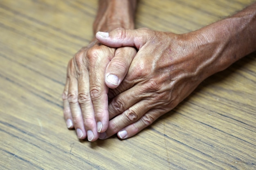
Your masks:
<path fill-rule="evenodd" d="M 99 0 L 94 35 L 97 31 L 111 31 L 118 27 L 134 29 L 136 5 L 137 0 Z"/>

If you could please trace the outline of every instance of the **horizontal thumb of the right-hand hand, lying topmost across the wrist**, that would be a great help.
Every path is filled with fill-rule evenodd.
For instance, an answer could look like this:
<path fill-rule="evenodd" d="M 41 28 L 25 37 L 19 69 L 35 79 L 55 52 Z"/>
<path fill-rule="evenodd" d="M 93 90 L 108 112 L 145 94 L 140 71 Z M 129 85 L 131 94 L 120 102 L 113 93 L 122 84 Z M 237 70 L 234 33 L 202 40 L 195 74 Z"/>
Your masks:
<path fill-rule="evenodd" d="M 135 46 L 140 49 L 148 40 L 150 29 L 142 28 L 136 30 L 117 28 L 108 32 L 97 32 L 96 38 L 99 42 L 110 47 Z"/>

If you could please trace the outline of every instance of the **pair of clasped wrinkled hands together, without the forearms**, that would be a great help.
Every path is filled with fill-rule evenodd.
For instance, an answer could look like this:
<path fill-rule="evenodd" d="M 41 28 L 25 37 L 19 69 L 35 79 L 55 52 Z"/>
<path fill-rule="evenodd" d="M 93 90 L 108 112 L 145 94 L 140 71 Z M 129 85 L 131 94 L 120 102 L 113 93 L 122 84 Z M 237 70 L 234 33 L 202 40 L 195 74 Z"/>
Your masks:
<path fill-rule="evenodd" d="M 63 93 L 67 126 L 80 139 L 132 137 L 204 79 L 189 34 L 115 29 L 96 38 L 102 44 L 93 42 L 70 60 Z"/>

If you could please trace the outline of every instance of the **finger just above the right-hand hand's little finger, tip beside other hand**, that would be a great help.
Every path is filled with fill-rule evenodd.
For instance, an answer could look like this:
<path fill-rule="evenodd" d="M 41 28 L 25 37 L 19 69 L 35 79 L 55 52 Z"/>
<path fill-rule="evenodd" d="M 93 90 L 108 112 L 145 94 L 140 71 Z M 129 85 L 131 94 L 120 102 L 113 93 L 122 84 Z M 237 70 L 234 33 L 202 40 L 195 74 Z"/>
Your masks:
<path fill-rule="evenodd" d="M 124 113 L 110 120 L 108 130 L 105 133 L 101 133 L 99 138 L 106 139 L 140 119 L 151 107 L 150 104 L 145 105 L 145 102 L 141 100 L 124 111 Z"/>

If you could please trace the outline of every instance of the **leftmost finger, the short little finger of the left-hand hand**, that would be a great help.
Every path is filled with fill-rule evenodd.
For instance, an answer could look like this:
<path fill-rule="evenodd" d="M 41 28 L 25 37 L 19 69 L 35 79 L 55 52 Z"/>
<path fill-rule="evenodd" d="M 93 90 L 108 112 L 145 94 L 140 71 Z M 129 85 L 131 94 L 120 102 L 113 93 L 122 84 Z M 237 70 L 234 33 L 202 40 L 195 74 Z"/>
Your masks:
<path fill-rule="evenodd" d="M 64 91 L 62 93 L 62 100 L 63 100 L 64 119 L 66 121 L 67 128 L 70 129 L 70 128 L 74 128 L 74 125 L 73 125 L 73 120 L 72 120 L 72 113 L 71 113 L 71 110 L 70 110 L 70 104 L 67 100 L 69 82 L 70 82 L 70 78 L 67 77 L 66 84 L 65 84 L 65 87 L 64 87 Z"/>

